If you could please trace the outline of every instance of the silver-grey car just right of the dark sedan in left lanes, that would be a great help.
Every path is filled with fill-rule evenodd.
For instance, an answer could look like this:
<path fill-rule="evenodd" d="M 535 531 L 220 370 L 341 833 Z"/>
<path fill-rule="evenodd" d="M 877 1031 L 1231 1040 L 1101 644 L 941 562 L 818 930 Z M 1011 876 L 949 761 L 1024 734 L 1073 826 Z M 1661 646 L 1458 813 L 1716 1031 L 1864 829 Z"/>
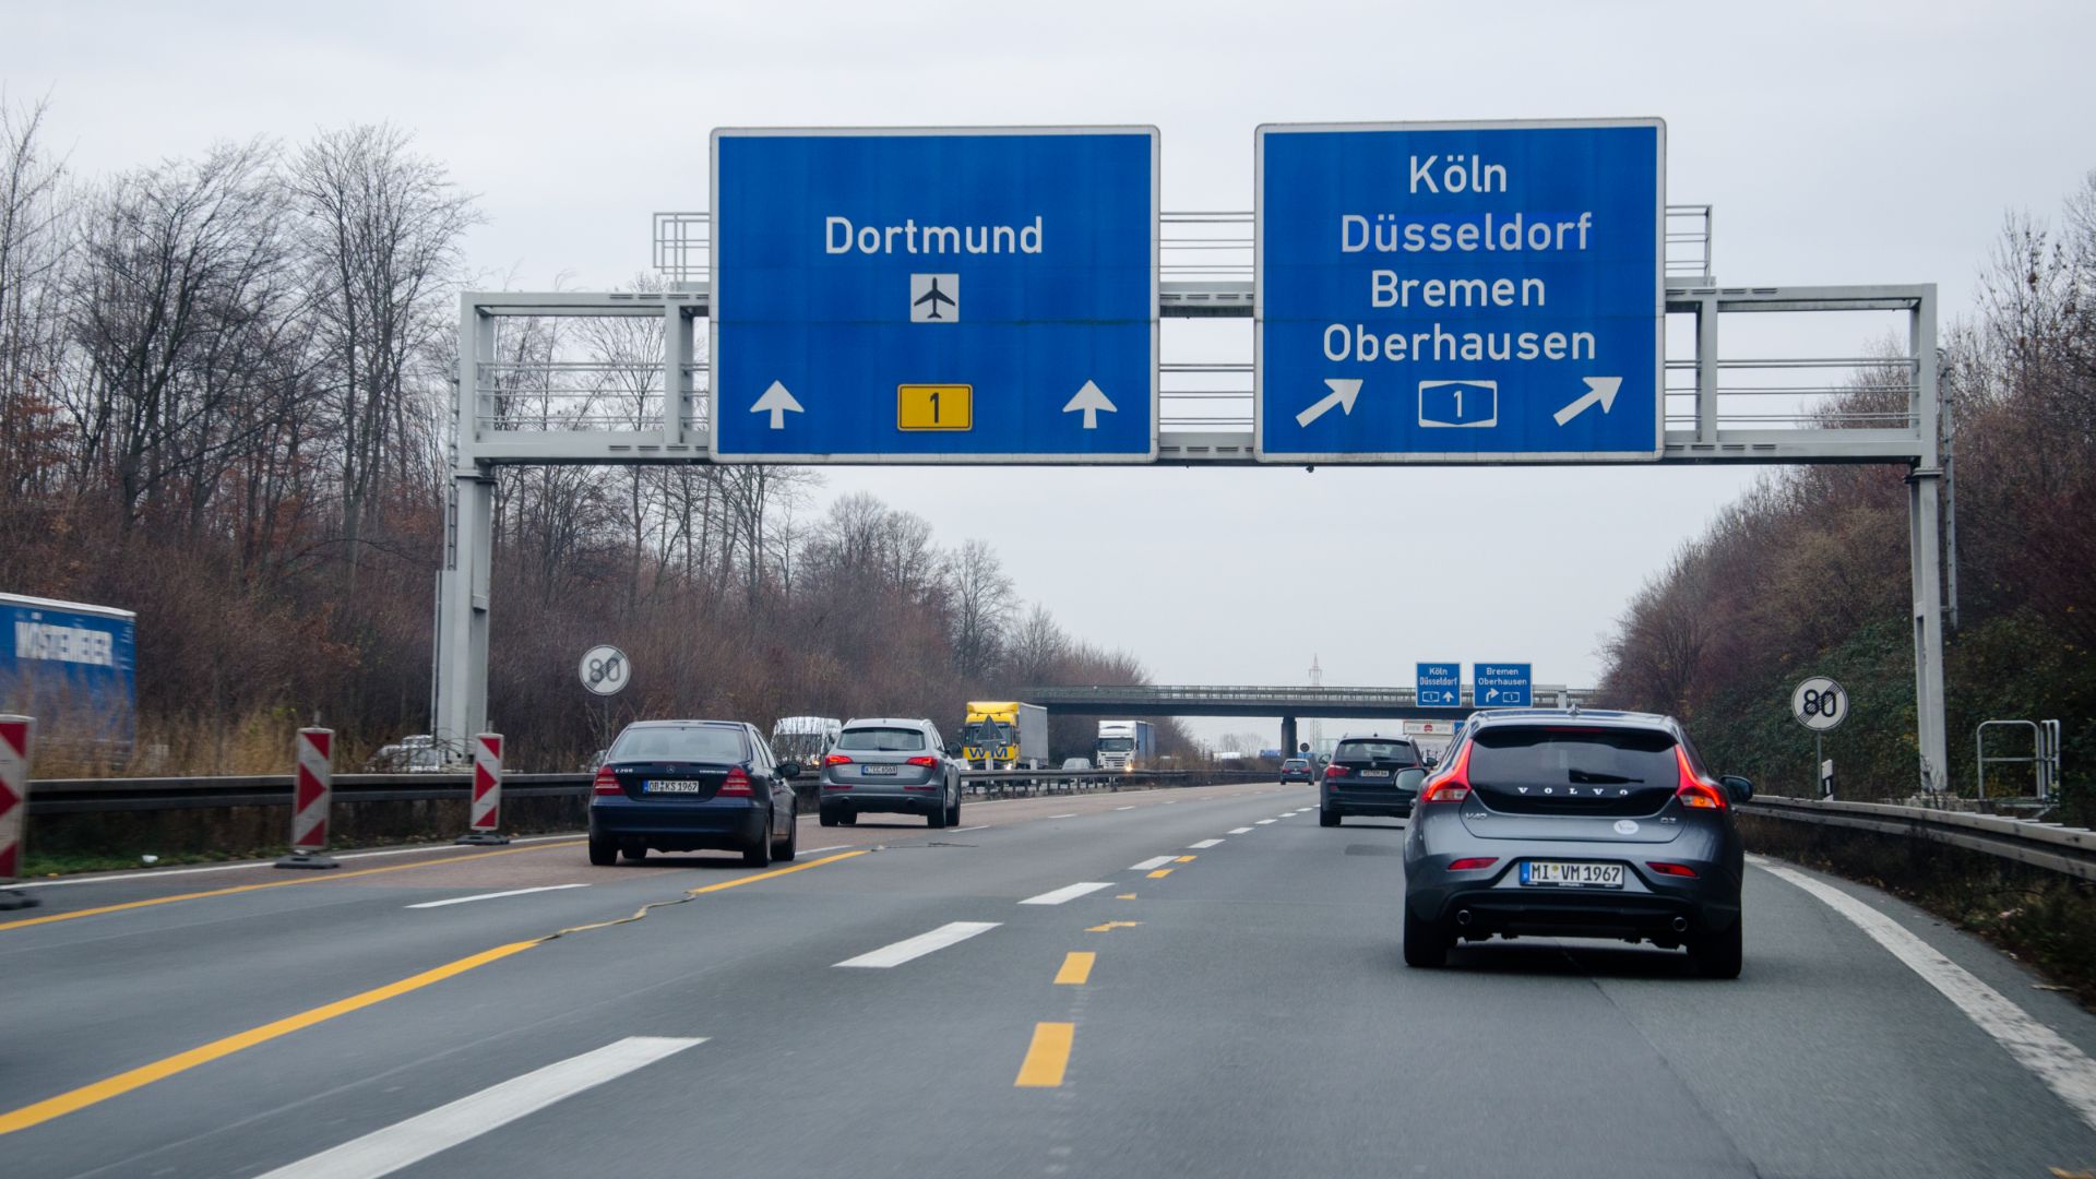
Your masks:
<path fill-rule="evenodd" d="M 960 762 L 929 720 L 847 720 L 822 759 L 817 816 L 824 827 L 861 814 L 922 814 L 931 827 L 960 824 Z"/>

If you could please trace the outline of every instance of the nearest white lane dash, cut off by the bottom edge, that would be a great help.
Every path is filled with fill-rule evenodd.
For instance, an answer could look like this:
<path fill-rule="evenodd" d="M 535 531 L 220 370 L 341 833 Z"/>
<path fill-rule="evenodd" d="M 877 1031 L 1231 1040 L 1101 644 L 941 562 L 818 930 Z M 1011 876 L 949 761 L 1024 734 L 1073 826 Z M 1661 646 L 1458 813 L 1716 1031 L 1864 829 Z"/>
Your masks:
<path fill-rule="evenodd" d="M 702 1043 L 702 1036 L 627 1036 L 279 1166 L 260 1179 L 379 1179 Z"/>

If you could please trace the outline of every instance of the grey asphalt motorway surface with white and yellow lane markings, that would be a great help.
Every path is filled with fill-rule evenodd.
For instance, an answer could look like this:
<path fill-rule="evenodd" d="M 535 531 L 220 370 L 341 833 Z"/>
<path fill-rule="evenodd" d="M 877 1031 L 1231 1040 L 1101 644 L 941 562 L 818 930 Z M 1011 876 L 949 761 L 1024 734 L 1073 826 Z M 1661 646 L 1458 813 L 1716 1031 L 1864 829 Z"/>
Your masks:
<path fill-rule="evenodd" d="M 1750 866 L 1738 982 L 1547 938 L 1419 971 L 1402 827 L 1308 808 L 807 820 L 767 871 L 543 839 L 40 885 L 0 915 L 0 1177 L 2096 1166 L 2096 1020 L 1882 894 Z"/>

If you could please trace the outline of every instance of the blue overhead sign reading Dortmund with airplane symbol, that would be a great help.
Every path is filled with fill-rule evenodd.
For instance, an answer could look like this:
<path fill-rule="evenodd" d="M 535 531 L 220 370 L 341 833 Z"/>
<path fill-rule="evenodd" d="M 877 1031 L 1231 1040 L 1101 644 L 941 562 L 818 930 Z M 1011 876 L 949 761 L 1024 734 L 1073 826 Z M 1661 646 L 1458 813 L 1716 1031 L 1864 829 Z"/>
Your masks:
<path fill-rule="evenodd" d="M 1157 128 L 713 132 L 723 462 L 1151 462 Z"/>

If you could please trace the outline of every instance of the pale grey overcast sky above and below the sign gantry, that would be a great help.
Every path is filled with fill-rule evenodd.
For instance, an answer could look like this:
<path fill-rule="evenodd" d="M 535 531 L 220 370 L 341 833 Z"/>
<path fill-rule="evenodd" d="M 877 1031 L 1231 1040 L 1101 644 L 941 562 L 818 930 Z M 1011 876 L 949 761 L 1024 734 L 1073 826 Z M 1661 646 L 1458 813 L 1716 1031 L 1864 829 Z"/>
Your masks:
<path fill-rule="evenodd" d="M 2096 168 L 2096 4 L 2065 0 L 0 10 L 0 82 L 50 99 L 75 170 L 390 120 L 480 195 L 472 264 L 516 290 L 643 271 L 650 214 L 706 206 L 715 126 L 1155 124 L 1165 210 L 1249 210 L 1262 122 L 1660 115 L 1668 199 L 1715 206 L 1725 285 L 1935 281 L 1945 321 L 2004 212 L 2050 214 Z M 1249 321 L 1195 344 L 1249 361 Z M 1300 684 L 1316 655 L 1327 684 L 1421 659 L 1589 684 L 1626 596 L 1750 478 L 836 468 L 820 497 L 991 539 L 1021 594 L 1159 682 Z"/>

